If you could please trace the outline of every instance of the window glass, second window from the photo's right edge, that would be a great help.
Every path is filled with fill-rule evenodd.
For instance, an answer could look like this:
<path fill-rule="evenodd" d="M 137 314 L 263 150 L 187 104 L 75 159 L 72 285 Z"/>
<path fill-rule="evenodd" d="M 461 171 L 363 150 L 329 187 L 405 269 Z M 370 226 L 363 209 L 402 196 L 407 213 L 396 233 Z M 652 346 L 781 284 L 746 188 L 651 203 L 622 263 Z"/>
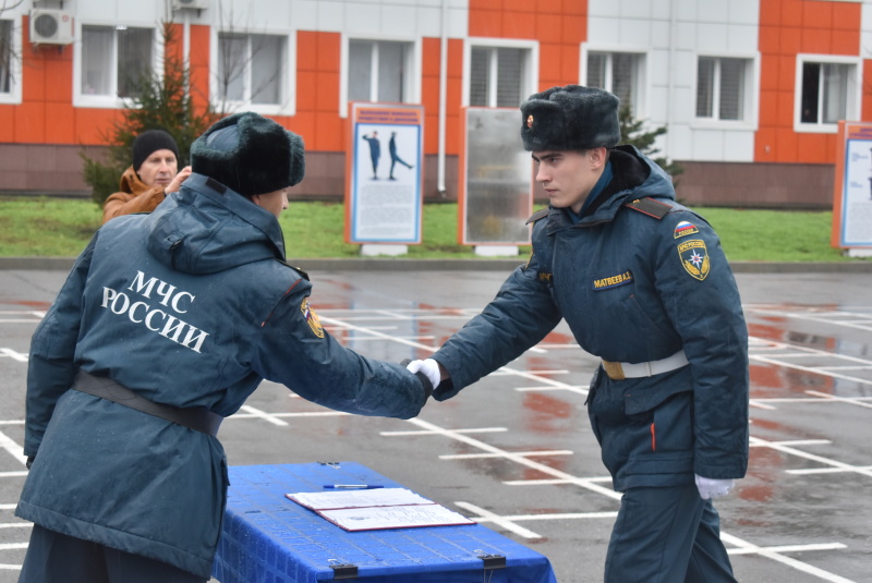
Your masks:
<path fill-rule="evenodd" d="M 697 118 L 746 120 L 751 69 L 750 59 L 700 57 L 697 61 Z"/>

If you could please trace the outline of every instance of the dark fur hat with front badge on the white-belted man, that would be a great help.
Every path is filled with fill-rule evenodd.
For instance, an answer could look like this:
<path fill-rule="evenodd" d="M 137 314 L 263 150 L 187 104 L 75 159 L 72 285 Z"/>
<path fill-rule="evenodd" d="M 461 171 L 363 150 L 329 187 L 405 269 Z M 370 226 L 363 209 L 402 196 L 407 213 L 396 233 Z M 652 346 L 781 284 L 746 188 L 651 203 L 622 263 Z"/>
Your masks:
<path fill-rule="evenodd" d="M 618 98 L 594 87 L 567 85 L 521 104 L 521 139 L 529 151 L 582 150 L 620 142 Z"/>

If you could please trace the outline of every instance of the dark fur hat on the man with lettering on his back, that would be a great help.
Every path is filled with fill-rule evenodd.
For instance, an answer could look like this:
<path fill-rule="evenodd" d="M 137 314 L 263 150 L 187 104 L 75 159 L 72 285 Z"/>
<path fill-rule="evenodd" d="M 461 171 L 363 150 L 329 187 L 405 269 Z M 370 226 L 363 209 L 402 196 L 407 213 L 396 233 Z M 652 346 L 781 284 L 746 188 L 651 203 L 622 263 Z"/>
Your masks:
<path fill-rule="evenodd" d="M 191 145 L 191 167 L 244 196 L 293 186 L 305 173 L 303 138 L 245 111 L 217 121 Z"/>

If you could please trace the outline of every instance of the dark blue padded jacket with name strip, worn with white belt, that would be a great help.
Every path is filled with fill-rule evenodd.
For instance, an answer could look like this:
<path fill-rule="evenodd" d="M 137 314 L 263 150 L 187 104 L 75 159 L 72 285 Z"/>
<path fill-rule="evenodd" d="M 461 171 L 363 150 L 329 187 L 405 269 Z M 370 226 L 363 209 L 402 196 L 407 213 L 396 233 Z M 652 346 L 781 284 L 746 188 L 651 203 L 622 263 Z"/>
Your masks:
<path fill-rule="evenodd" d="M 529 264 L 434 355 L 451 377 L 434 397 L 511 362 L 565 318 L 603 360 L 643 363 L 683 350 L 690 363 L 652 377 L 594 375 L 589 414 L 617 490 L 694 473 L 741 477 L 748 332 L 720 243 L 675 202 L 669 177 L 649 158 L 621 146 L 610 160 L 613 181 L 578 224 L 562 209 L 534 215 Z"/>

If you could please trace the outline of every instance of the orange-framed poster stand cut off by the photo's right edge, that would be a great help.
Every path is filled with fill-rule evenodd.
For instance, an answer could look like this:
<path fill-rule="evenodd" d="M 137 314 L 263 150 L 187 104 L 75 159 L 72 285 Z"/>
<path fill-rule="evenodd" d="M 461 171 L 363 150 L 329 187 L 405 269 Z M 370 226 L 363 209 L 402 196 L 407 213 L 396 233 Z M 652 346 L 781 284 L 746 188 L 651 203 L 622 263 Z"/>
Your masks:
<path fill-rule="evenodd" d="M 872 123 L 838 127 L 832 244 L 872 252 Z"/>

